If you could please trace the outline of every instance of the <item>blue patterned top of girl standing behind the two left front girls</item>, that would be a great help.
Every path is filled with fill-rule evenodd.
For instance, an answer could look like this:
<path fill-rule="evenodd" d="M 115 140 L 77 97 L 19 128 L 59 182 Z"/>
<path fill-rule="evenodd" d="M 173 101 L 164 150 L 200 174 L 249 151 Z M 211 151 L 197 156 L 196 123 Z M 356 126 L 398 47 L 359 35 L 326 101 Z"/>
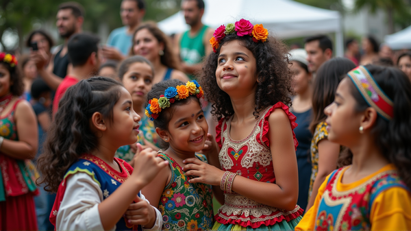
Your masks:
<path fill-rule="evenodd" d="M 138 143 L 145 145 L 144 141 L 142 140 L 142 136 L 144 136 L 146 141 L 149 141 L 153 145 L 160 148 L 160 139 L 158 138 L 157 132 L 155 132 L 153 121 L 150 121 L 150 119 L 146 116 L 142 117 L 139 130 L 141 132 L 138 134 Z M 134 153 L 130 148 L 130 145 L 121 146 L 116 151 L 116 158 L 121 158 L 122 160 L 125 160 L 127 162 L 130 162 L 133 157 Z"/>

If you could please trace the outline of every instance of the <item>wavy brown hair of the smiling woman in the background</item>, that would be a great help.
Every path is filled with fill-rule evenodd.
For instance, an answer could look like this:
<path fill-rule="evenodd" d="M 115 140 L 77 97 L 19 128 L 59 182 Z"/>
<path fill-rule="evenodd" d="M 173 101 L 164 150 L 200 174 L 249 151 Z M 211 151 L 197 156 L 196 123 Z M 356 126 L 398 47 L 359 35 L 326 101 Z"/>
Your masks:
<path fill-rule="evenodd" d="M 134 45 L 136 45 L 136 41 L 134 40 L 134 37 L 136 37 L 137 32 L 139 32 L 142 29 L 147 29 L 155 37 L 155 39 L 158 40 L 159 44 L 160 43 L 164 44 L 164 50 L 163 50 L 164 55 L 160 56 L 160 62 L 164 66 L 179 70 L 177 57 L 175 56 L 173 49 L 171 49 L 171 41 L 169 37 L 167 37 L 166 34 L 164 34 L 164 32 L 162 32 L 161 29 L 159 29 L 154 22 L 142 23 L 142 25 L 137 27 L 132 37 L 132 49 L 130 49 L 130 54 L 132 56 L 136 55 L 133 49 Z"/>

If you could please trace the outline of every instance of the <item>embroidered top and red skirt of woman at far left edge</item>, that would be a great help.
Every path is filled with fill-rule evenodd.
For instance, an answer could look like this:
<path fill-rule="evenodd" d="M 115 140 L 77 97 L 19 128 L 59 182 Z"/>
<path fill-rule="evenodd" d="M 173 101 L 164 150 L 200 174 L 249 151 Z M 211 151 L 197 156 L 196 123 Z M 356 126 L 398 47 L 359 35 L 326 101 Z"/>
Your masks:
<path fill-rule="evenodd" d="M 0 136 L 18 141 L 14 110 L 0 118 Z M 17 160 L 0 153 L 0 230 L 37 230 L 33 196 L 38 194 L 29 160 Z"/>

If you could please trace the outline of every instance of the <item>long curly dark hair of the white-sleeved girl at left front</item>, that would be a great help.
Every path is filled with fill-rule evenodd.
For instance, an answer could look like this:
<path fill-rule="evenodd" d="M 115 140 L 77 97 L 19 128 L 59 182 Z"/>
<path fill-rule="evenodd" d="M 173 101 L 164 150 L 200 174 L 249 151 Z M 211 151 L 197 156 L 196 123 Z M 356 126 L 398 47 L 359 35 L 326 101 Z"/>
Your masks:
<path fill-rule="evenodd" d="M 42 173 L 37 184 L 45 183 L 46 191 L 56 192 L 73 162 L 97 148 L 98 138 L 89 120 L 93 113 L 100 112 L 112 122 L 121 86 L 121 82 L 108 77 L 92 77 L 64 93 L 47 132 L 43 154 L 37 160 L 38 171 Z"/>

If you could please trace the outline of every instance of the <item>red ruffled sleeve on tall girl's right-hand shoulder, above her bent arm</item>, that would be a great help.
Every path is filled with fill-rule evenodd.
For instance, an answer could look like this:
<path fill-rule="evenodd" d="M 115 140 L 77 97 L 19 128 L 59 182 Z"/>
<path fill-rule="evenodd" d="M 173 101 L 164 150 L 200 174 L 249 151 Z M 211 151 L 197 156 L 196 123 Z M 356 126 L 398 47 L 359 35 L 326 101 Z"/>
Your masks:
<path fill-rule="evenodd" d="M 298 146 L 298 141 L 297 138 L 295 138 L 295 133 L 294 133 L 294 129 L 295 127 L 297 127 L 297 123 L 295 123 L 295 120 L 297 119 L 297 117 L 295 117 L 294 114 L 292 114 L 288 108 L 288 106 L 286 106 L 285 104 L 283 104 L 282 102 L 278 102 L 277 104 L 275 104 L 273 107 L 270 108 L 270 110 L 268 112 L 266 112 L 266 114 L 264 115 L 264 126 L 262 127 L 262 142 L 264 142 L 264 144 L 267 147 L 270 147 L 270 140 L 269 140 L 269 130 L 270 130 L 270 125 L 269 125 L 269 116 L 271 114 L 271 112 L 273 112 L 275 109 L 277 108 L 282 108 L 282 110 L 284 110 L 284 112 L 286 112 L 288 119 L 290 119 L 290 125 L 291 125 L 291 130 L 292 130 L 292 139 L 294 140 L 294 147 L 297 150 L 297 146 Z M 258 143 L 260 143 L 260 140 L 258 140 Z"/>

